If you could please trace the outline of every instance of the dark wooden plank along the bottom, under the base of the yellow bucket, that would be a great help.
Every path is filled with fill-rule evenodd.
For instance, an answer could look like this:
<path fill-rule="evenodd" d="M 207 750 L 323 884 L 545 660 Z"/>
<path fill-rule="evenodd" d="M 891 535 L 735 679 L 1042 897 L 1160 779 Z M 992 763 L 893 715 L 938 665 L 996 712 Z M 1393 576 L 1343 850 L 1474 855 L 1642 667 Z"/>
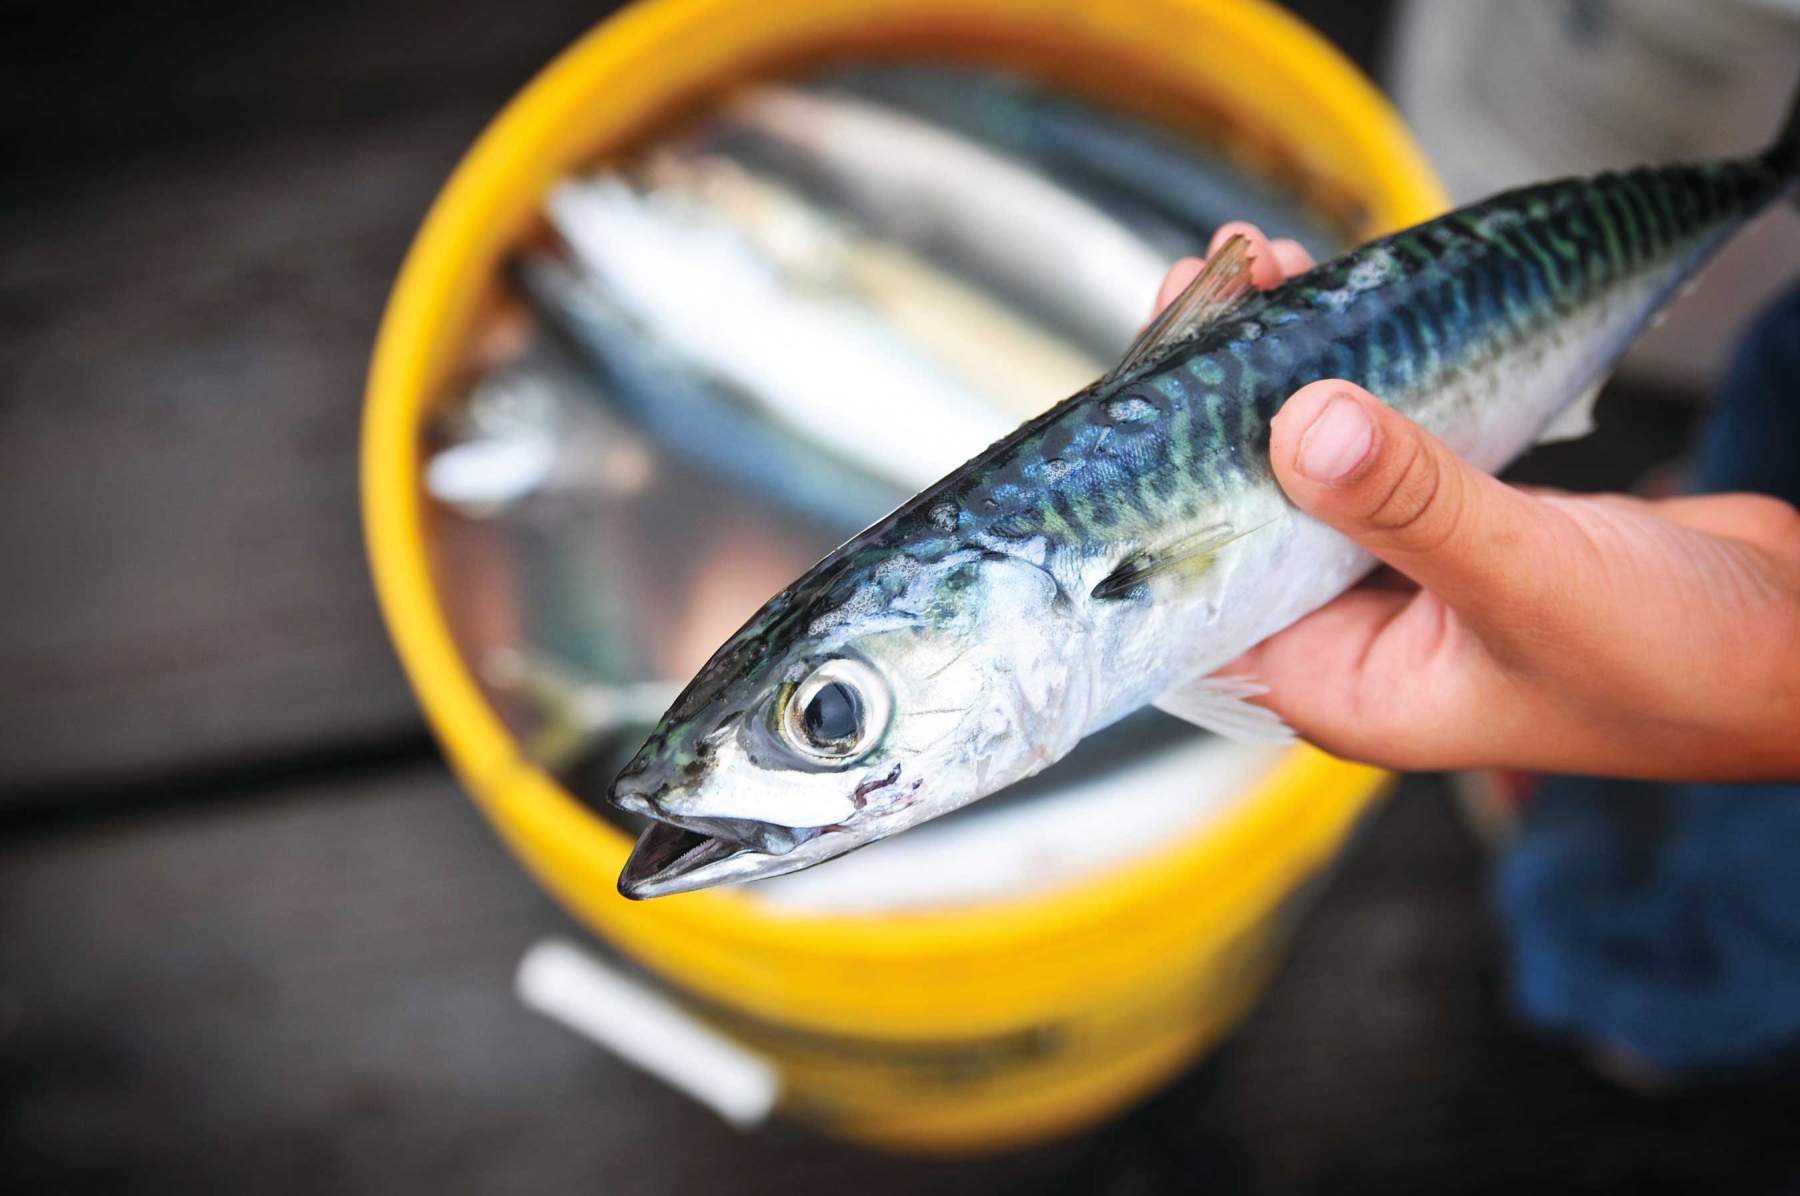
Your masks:
<path fill-rule="evenodd" d="M 979 1162 L 754 1137 L 518 1009 L 571 931 L 436 769 L 0 848 L 7 1191 L 1778 1191 L 1800 1084 L 1638 1097 L 1507 1012 L 1431 782 L 1368 829 L 1237 1039 Z"/>

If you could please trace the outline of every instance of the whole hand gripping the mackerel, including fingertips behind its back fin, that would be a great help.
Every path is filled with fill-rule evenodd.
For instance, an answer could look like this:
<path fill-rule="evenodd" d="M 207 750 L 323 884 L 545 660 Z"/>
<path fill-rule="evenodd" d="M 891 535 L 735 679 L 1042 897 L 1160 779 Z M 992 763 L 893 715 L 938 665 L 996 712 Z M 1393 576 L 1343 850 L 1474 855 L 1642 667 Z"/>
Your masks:
<path fill-rule="evenodd" d="M 1253 281 L 1312 263 L 1251 240 Z M 1177 263 L 1161 310 L 1199 272 Z M 1222 672 L 1327 751 L 1388 767 L 1800 776 L 1800 515 L 1755 494 L 1658 503 L 1496 481 L 1359 385 L 1271 427 L 1287 497 L 1393 567 Z"/>

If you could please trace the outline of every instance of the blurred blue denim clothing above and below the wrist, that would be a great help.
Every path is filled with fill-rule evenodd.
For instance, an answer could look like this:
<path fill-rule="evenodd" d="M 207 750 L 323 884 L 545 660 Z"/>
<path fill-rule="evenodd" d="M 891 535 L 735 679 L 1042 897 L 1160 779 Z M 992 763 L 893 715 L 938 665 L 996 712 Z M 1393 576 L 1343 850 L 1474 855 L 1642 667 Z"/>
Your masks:
<path fill-rule="evenodd" d="M 1800 504 L 1800 288 L 1739 346 L 1696 490 Z M 1800 782 L 1546 778 L 1496 895 L 1534 1023 L 1674 1075 L 1800 1054 Z"/>

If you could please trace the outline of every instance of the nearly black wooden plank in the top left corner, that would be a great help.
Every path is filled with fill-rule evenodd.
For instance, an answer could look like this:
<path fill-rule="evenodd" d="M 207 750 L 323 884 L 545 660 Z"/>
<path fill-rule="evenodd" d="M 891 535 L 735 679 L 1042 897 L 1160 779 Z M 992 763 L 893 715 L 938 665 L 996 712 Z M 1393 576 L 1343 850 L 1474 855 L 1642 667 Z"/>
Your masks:
<path fill-rule="evenodd" d="M 0 140 L 25 175 L 499 106 L 619 0 L 7 5 Z"/>

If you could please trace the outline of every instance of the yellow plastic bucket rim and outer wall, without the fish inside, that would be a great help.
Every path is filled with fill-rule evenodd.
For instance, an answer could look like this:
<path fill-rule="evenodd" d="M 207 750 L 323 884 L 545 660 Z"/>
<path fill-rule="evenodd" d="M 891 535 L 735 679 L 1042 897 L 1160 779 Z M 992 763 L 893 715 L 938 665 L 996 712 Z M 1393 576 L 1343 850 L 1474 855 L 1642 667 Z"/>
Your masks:
<path fill-rule="evenodd" d="M 1229 1030 L 1283 913 L 1384 775 L 1294 749 L 1222 821 L 970 910 L 826 917 L 731 892 L 634 904 L 614 888 L 628 838 L 522 758 L 459 656 L 419 485 L 421 423 L 553 180 L 747 76 L 927 49 L 1226 128 L 1359 238 L 1444 207 L 1375 90 L 1258 0 L 648 0 L 551 63 L 432 205 L 382 321 L 362 485 L 401 663 L 461 780 L 538 881 L 772 1059 L 790 1117 L 864 1142 L 986 1149 L 1091 1124 Z"/>

